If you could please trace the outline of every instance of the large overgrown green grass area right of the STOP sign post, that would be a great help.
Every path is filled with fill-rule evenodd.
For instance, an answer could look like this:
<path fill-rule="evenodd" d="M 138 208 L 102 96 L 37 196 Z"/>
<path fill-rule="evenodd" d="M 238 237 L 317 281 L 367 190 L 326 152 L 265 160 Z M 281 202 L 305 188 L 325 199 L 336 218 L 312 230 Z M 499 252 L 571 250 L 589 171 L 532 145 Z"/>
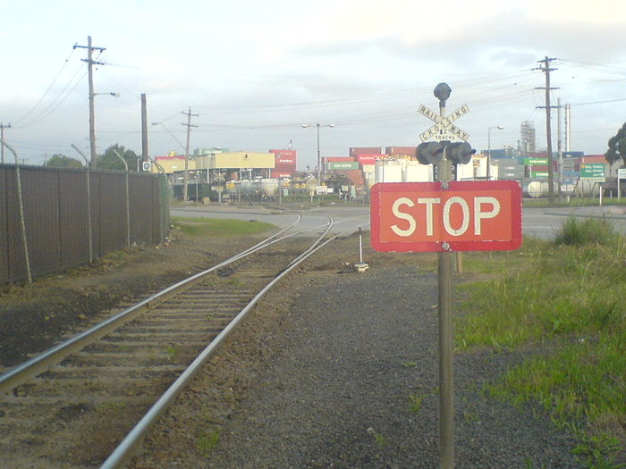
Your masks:
<path fill-rule="evenodd" d="M 573 451 L 588 467 L 618 467 L 613 456 L 626 456 L 626 239 L 603 219 L 569 219 L 552 243 L 525 240 L 517 253 L 471 256 L 470 265 L 502 274 L 462 287 L 457 347 L 550 350 L 487 392 L 540 404 L 579 436 Z"/>

